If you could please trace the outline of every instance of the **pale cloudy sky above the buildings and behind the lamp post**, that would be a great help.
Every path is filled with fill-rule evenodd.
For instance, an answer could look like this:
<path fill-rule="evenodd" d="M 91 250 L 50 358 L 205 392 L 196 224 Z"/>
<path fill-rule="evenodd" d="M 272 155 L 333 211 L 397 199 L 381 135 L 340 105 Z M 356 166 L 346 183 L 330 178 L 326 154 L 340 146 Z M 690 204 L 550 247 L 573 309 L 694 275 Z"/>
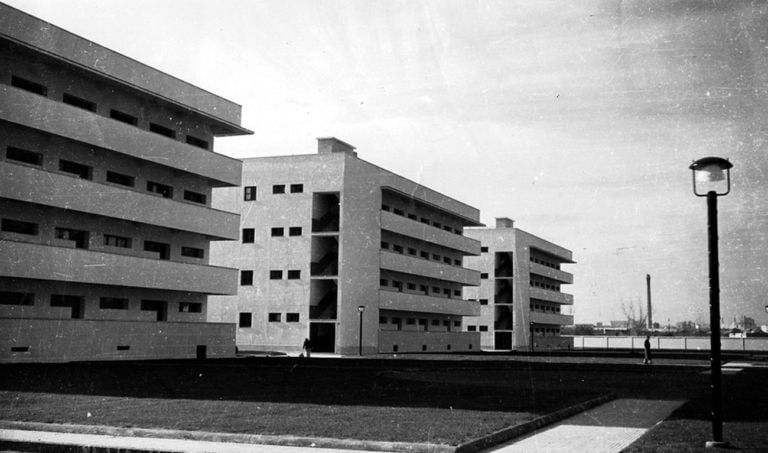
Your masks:
<path fill-rule="evenodd" d="M 768 4 L 739 0 L 3 0 L 243 106 L 233 157 L 359 157 L 573 251 L 577 323 L 768 324 Z"/>

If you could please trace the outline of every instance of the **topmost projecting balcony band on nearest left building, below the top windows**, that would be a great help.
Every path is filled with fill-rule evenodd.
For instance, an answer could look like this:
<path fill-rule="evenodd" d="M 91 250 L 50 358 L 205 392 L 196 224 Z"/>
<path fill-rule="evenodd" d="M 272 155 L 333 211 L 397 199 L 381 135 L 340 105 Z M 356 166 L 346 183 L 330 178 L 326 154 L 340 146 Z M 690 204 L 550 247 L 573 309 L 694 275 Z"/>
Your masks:
<path fill-rule="evenodd" d="M 239 186 L 242 178 L 237 159 L 8 85 L 0 85 L 0 120 L 205 176 L 215 186 Z"/>

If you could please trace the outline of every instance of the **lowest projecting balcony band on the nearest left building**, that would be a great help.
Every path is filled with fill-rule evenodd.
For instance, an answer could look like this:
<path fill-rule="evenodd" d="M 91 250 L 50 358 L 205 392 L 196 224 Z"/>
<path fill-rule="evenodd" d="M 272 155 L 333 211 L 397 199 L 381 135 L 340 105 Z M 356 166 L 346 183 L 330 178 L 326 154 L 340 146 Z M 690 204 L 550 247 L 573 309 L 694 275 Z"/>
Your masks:
<path fill-rule="evenodd" d="M 0 241 L 0 275 L 64 282 L 237 293 L 237 270 L 115 255 L 26 242 Z"/>

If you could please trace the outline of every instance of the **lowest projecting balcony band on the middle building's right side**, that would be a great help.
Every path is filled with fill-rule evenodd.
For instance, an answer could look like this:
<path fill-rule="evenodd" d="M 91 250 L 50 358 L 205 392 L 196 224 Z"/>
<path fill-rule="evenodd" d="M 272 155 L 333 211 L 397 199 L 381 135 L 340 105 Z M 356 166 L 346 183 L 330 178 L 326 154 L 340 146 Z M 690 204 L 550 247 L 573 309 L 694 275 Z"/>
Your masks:
<path fill-rule="evenodd" d="M 387 290 L 379 291 L 379 310 L 480 316 L 480 304 L 475 301 Z"/>

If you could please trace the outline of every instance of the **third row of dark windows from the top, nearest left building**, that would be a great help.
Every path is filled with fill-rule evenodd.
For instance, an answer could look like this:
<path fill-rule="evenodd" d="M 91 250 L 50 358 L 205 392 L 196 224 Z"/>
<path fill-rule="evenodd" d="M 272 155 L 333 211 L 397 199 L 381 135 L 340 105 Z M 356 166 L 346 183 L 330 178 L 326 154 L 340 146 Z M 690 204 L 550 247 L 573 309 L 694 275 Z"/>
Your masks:
<path fill-rule="evenodd" d="M 24 234 L 27 236 L 38 236 L 40 228 L 37 223 L 24 220 L 9 219 L 4 217 L 0 220 L 0 231 L 7 233 Z M 91 233 L 85 230 L 74 228 L 54 227 L 54 237 L 56 239 L 72 241 L 75 248 L 88 249 Z M 117 247 L 124 249 L 133 248 L 133 239 L 114 234 L 104 234 L 104 245 L 108 247 Z M 161 260 L 171 259 L 171 244 L 144 240 L 144 251 L 158 253 Z M 204 259 L 205 250 L 197 247 L 181 247 L 181 256 L 189 258 Z"/>

